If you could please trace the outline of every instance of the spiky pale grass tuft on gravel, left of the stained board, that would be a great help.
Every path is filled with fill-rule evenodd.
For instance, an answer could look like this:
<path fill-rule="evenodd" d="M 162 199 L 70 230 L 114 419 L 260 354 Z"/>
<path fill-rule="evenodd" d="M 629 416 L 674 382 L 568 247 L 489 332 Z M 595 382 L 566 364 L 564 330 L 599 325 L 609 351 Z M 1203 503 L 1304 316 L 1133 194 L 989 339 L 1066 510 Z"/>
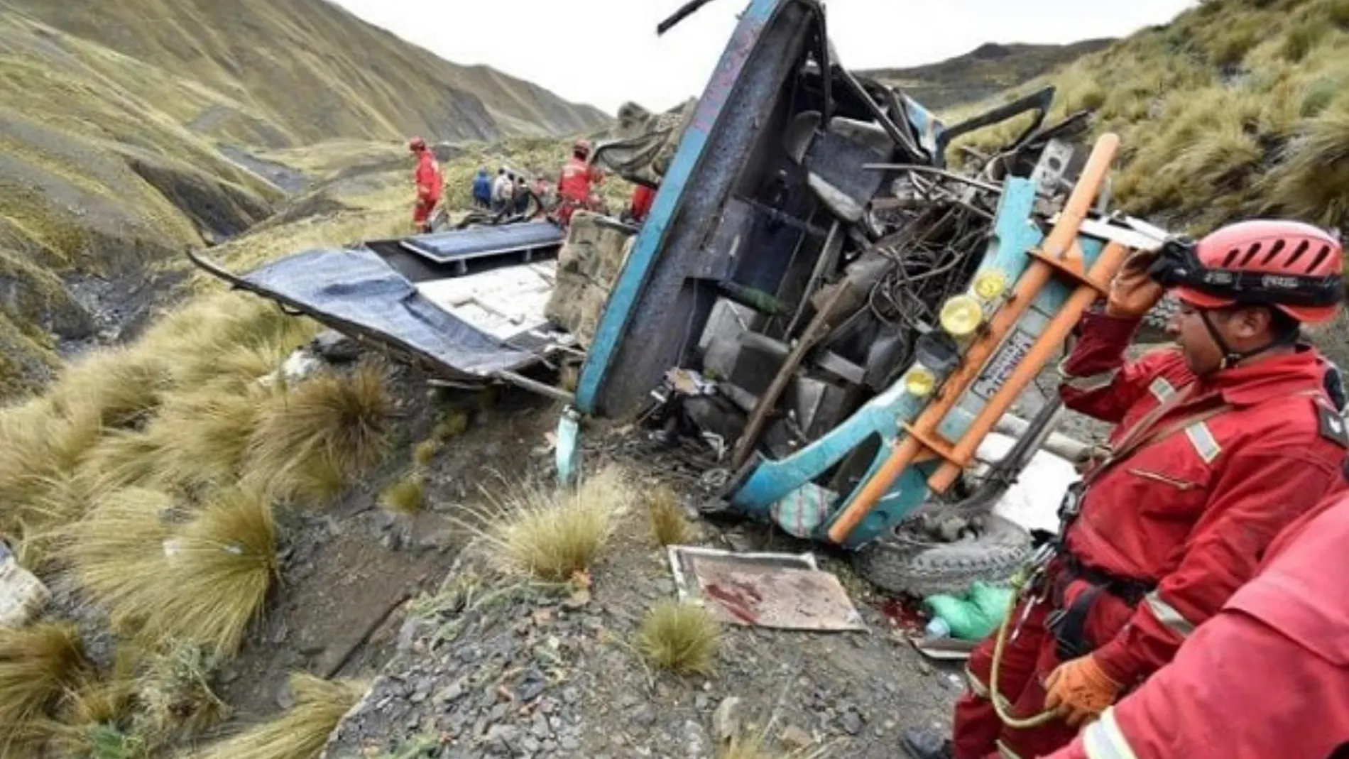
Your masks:
<path fill-rule="evenodd" d="M 627 475 L 610 465 L 575 489 L 518 484 L 490 499 L 491 506 L 478 514 L 483 524 L 468 528 L 486 541 L 498 568 L 565 582 L 590 569 L 608 545 L 633 492 Z"/>

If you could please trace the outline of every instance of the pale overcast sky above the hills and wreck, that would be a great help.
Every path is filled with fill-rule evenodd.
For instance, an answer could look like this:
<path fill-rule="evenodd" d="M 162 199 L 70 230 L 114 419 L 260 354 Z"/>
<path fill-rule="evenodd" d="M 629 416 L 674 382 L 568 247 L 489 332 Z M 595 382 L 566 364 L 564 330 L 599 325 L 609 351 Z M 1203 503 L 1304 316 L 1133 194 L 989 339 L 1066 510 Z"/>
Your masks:
<path fill-rule="evenodd" d="M 683 0 L 332 0 L 456 63 L 486 63 L 614 113 L 701 93 L 747 0 L 714 0 L 656 36 Z M 912 66 L 985 42 L 1075 42 L 1166 23 L 1194 0 L 831 0 L 851 69 Z"/>

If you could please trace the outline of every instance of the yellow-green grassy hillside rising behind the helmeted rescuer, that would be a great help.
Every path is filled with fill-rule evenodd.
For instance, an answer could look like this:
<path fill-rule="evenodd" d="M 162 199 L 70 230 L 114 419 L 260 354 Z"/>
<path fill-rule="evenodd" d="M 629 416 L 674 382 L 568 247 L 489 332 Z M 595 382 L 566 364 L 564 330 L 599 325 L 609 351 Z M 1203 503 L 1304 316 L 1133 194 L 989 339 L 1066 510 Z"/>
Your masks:
<path fill-rule="evenodd" d="M 1207 0 L 1005 97 L 1045 81 L 1056 115 L 1093 109 L 1122 136 L 1130 213 L 1193 232 L 1252 214 L 1349 228 L 1349 0 Z"/>

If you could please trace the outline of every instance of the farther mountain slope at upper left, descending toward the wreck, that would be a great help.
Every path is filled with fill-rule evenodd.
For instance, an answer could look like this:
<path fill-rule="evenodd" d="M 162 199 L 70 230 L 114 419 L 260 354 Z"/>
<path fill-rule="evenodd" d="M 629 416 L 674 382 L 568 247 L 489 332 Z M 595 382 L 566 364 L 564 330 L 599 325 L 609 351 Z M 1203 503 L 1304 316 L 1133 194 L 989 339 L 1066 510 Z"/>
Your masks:
<path fill-rule="evenodd" d="M 198 107 L 185 121 L 217 139 L 268 147 L 409 133 L 491 140 L 576 133 L 607 121 L 529 82 L 437 58 L 325 0 L 9 5 L 220 93 L 228 101 Z"/>

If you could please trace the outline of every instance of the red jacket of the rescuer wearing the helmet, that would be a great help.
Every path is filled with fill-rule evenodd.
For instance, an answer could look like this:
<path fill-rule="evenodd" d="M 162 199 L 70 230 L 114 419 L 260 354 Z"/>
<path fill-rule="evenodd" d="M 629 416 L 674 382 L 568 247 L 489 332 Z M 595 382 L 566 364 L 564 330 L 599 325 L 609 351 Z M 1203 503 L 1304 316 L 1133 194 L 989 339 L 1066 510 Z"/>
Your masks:
<path fill-rule="evenodd" d="M 1085 565 L 1156 584 L 1136 608 L 1098 601 L 1090 615 L 1091 628 L 1112 634 L 1095 640 L 1097 661 L 1126 685 L 1170 662 L 1252 577 L 1269 541 L 1344 488 L 1346 453 L 1314 351 L 1197 380 L 1175 349 L 1126 363 L 1136 328 L 1136 320 L 1083 317 L 1081 341 L 1062 365 L 1060 395 L 1070 408 L 1117 422 L 1112 444 L 1178 392 L 1186 400 L 1149 429 L 1229 408 L 1089 475 L 1081 515 L 1067 531 L 1068 550 Z M 1085 588 L 1070 585 L 1067 601 Z"/>

